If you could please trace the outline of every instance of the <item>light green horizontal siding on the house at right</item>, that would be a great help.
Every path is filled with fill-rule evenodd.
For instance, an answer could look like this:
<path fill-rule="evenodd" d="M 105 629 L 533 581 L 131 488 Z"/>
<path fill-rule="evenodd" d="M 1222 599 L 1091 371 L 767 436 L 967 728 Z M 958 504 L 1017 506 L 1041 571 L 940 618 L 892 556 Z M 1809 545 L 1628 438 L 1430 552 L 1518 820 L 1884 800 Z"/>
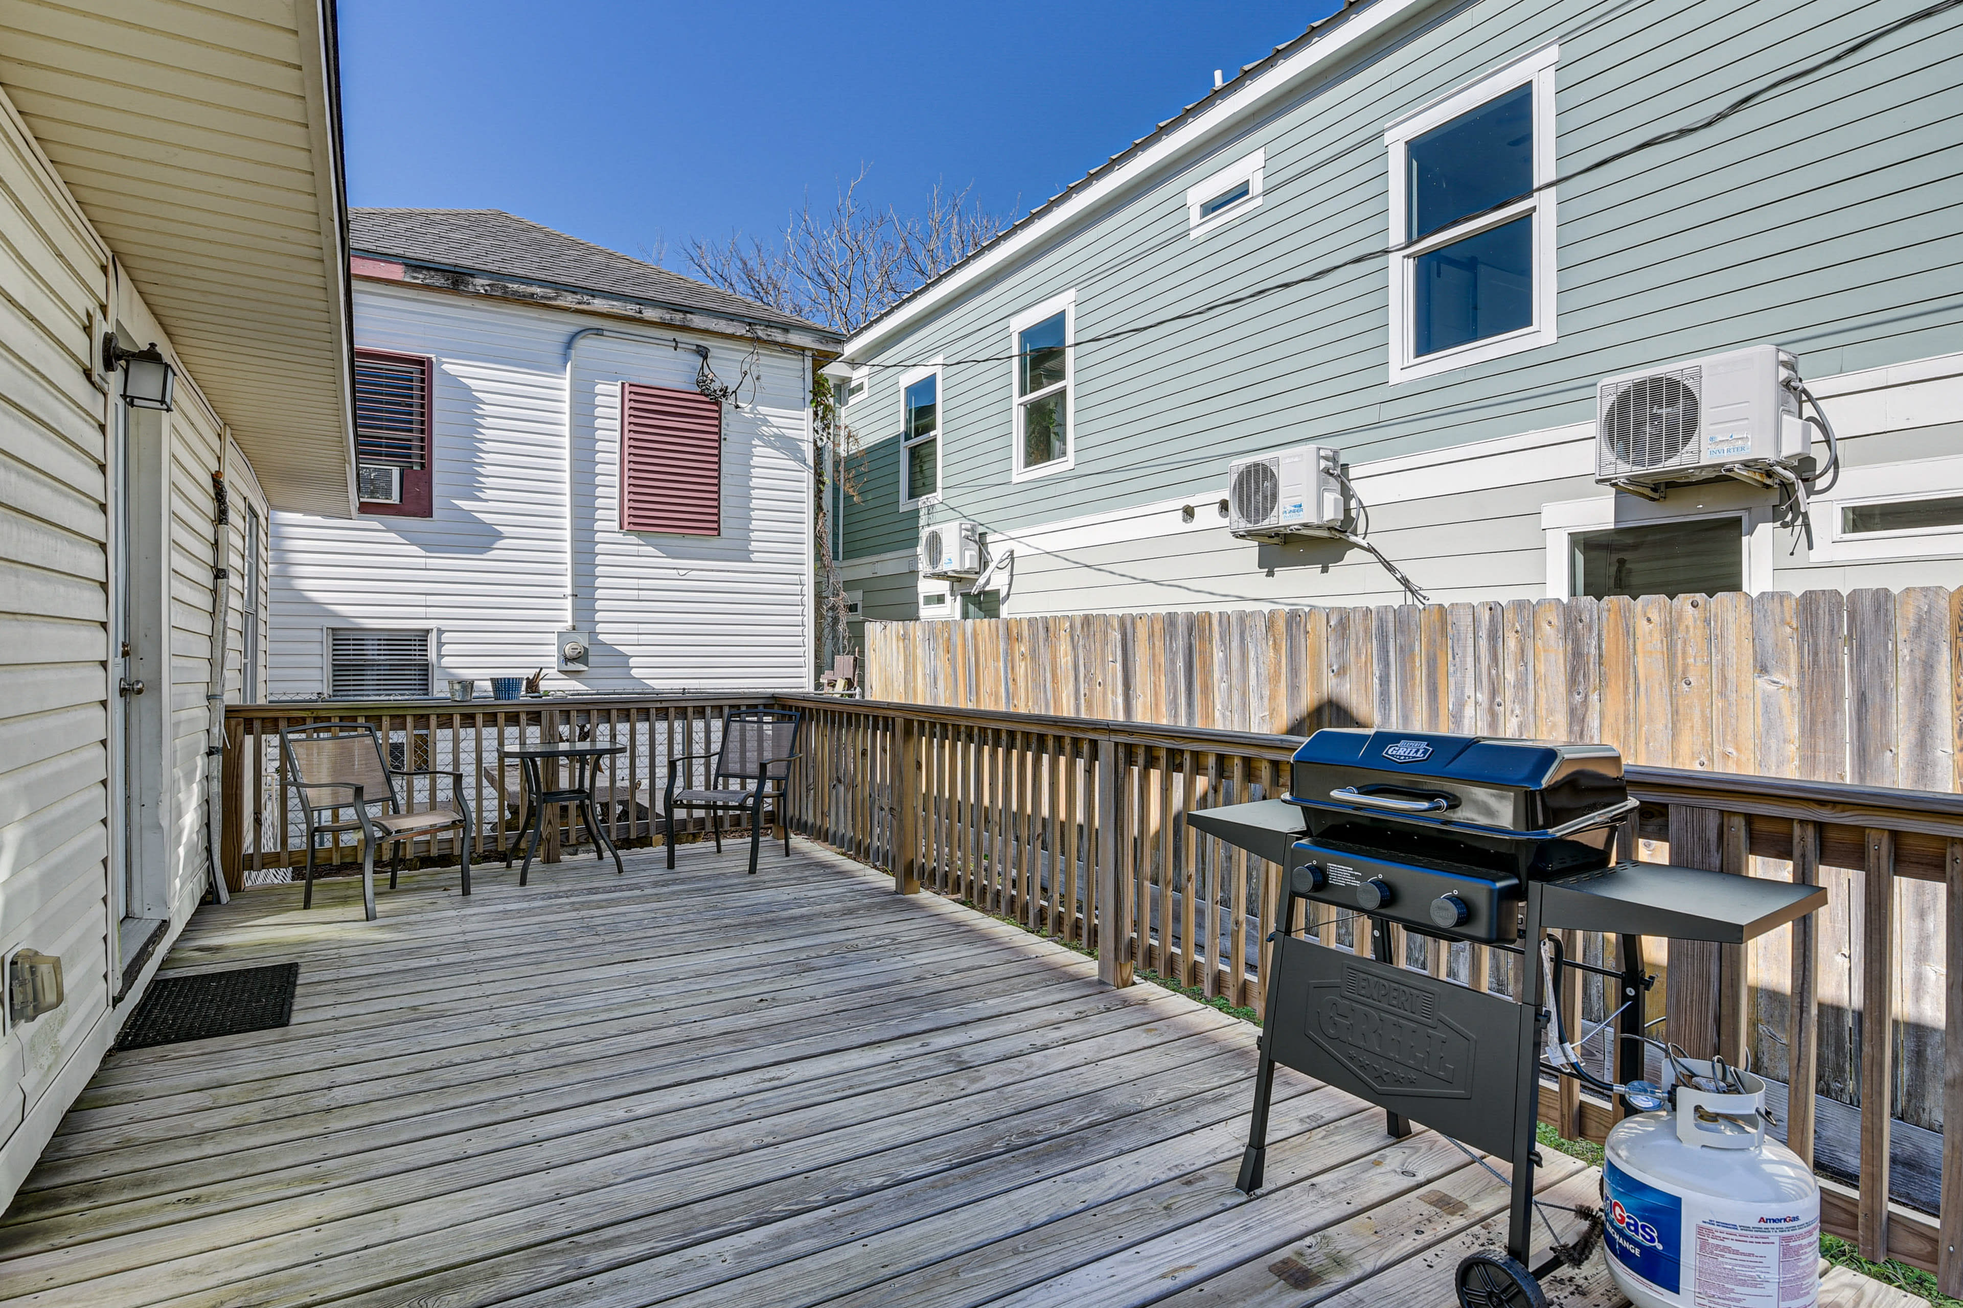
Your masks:
<path fill-rule="evenodd" d="M 875 349 L 850 357 L 1003 355 L 1009 318 L 1064 290 L 1076 290 L 1078 339 L 1095 337 L 1378 249 L 1384 127 L 1555 41 L 1557 167 L 1566 173 L 1906 12 L 1855 0 L 1415 6 L 1280 110 L 1195 145 L 907 335 L 879 339 L 875 324 Z M 930 512 L 1017 531 L 1225 484 L 1231 459 L 1284 445 L 1327 443 L 1358 463 L 1588 422 L 1598 377 L 1761 341 L 1792 349 L 1808 377 L 1963 351 L 1957 55 L 1963 14 L 1947 14 L 1690 139 L 1563 184 L 1559 341 L 1541 349 L 1392 386 L 1388 273 L 1368 261 L 1078 347 L 1076 469 L 1021 484 L 1009 463 L 1011 365 L 950 363 L 944 502 Z M 1186 188 L 1256 147 L 1266 151 L 1260 208 L 1188 239 Z M 862 435 L 899 429 L 897 377 L 874 369 L 854 406 Z M 848 557 L 909 547 L 917 529 L 915 514 L 897 508 L 897 439 L 870 445 L 866 467 L 870 490 L 846 512 Z M 1547 498 L 1588 490 L 1588 480 L 1566 482 Z M 1500 535 L 1527 553 L 1539 549 L 1537 524 L 1521 529 L 1535 508 L 1500 512 L 1519 524 Z M 1476 547 L 1480 514 L 1445 535 L 1445 557 Z M 1535 590 L 1537 559 L 1496 569 L 1510 594 Z M 1186 573 L 1207 567 L 1188 563 Z"/>

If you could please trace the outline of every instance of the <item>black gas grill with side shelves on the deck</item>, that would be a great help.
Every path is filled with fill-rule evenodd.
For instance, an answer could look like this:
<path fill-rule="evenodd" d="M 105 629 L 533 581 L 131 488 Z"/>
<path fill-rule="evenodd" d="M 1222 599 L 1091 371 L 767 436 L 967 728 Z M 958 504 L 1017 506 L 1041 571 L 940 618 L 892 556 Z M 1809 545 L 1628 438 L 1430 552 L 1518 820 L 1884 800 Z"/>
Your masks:
<path fill-rule="evenodd" d="M 1323 729 L 1296 751 L 1286 798 L 1192 814 L 1194 828 L 1286 871 L 1239 1186 L 1260 1188 L 1274 1065 L 1294 1067 L 1382 1106 L 1392 1135 L 1421 1122 L 1510 1159 L 1510 1257 L 1460 1263 L 1459 1296 L 1543 1302 L 1549 1267 L 1527 1269 L 1541 1075 L 1641 1106 L 1641 937 L 1743 943 L 1826 904 L 1816 886 L 1619 861 L 1635 810 L 1608 745 Z M 1311 937 L 1298 910 L 1315 906 L 1354 914 L 1356 951 Z M 1519 994 L 1396 965 L 1392 926 L 1519 953 Z M 1619 935 L 1621 971 L 1563 957 L 1547 935 L 1557 930 Z M 1618 984 L 1614 1084 L 1566 1039 L 1553 984 L 1563 969 Z"/>

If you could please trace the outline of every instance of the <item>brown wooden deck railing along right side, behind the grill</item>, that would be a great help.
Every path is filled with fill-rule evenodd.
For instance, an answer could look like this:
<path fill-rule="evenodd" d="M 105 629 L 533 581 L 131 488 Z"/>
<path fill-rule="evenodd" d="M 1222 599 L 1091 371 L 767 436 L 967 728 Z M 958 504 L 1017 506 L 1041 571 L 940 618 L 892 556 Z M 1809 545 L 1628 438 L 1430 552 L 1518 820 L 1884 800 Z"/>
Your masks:
<path fill-rule="evenodd" d="M 1256 1012 L 1282 869 L 1190 828 L 1188 812 L 1284 794 L 1300 739 L 1245 731 L 1044 714 L 777 696 L 807 712 L 793 779 L 793 826 L 887 867 L 899 892 L 954 894 L 1078 947 L 1099 975 L 1129 984 L 1144 967 Z M 1692 1051 L 1753 1053 L 1775 1082 L 1788 1143 L 1845 1184 L 1828 1182 L 1826 1226 L 1883 1253 L 1939 1269 L 1963 1288 L 1963 1137 L 1857 1112 L 1918 1094 L 1937 1120 L 1963 1114 L 1963 1061 L 1943 1043 L 1963 1026 L 1963 796 L 1686 769 L 1631 767 L 1643 800 L 1623 851 L 1741 875 L 1826 884 L 1831 908 L 1751 947 L 1651 941 L 1659 975 L 1647 1016 L 1667 1018 Z M 1904 959 L 1912 908 L 1936 953 Z M 1339 947 L 1343 914 L 1311 928 Z M 1619 965 L 1616 939 L 1572 933 L 1570 957 Z M 1396 945 L 1406 967 L 1478 988 L 1512 990 L 1502 947 L 1443 947 L 1417 933 Z M 1570 977 L 1568 1002 L 1590 1020 L 1616 1008 L 1600 979 Z M 1898 1022 L 1904 996 L 1932 988 L 1936 1026 Z M 1924 996 L 1926 998 L 1926 996 Z M 1598 1041 L 1590 1055 L 1608 1071 Z M 1906 1073 L 1906 1075 L 1904 1075 Z M 1777 1094 L 1782 1084 L 1818 1094 Z M 1574 1082 L 1543 1090 L 1543 1116 L 1600 1139 L 1612 1116 Z M 1953 1120 L 1963 1120 L 1957 1116 Z M 1906 1137 L 1906 1139 L 1904 1139 Z M 1894 1192 L 1932 1220 L 1898 1202 Z"/>

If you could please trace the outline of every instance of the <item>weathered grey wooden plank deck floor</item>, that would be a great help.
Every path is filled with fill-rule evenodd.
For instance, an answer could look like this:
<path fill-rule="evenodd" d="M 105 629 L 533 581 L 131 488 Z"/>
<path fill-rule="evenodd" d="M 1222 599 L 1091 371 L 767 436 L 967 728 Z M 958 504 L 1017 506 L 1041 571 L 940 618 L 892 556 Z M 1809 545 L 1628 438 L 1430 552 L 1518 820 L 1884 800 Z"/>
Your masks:
<path fill-rule="evenodd" d="M 795 849 L 410 875 L 375 924 L 353 880 L 202 910 L 167 973 L 296 959 L 292 1026 L 112 1053 L 0 1298 L 1449 1304 L 1500 1241 L 1464 1153 L 1290 1073 L 1241 1196 L 1250 1026 Z M 1621 1302 L 1600 1253 L 1549 1300 Z"/>

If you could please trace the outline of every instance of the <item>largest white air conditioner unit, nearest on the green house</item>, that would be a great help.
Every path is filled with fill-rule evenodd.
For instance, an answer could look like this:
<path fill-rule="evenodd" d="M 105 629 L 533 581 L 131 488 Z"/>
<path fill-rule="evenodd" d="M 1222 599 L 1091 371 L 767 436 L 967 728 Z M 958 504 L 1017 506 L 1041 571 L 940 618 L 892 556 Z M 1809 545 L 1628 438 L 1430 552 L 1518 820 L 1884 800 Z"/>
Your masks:
<path fill-rule="evenodd" d="M 1792 469 L 1814 426 L 1786 388 L 1798 363 L 1777 345 L 1684 359 L 1596 382 L 1596 480 L 1661 498 L 1669 482 Z"/>

